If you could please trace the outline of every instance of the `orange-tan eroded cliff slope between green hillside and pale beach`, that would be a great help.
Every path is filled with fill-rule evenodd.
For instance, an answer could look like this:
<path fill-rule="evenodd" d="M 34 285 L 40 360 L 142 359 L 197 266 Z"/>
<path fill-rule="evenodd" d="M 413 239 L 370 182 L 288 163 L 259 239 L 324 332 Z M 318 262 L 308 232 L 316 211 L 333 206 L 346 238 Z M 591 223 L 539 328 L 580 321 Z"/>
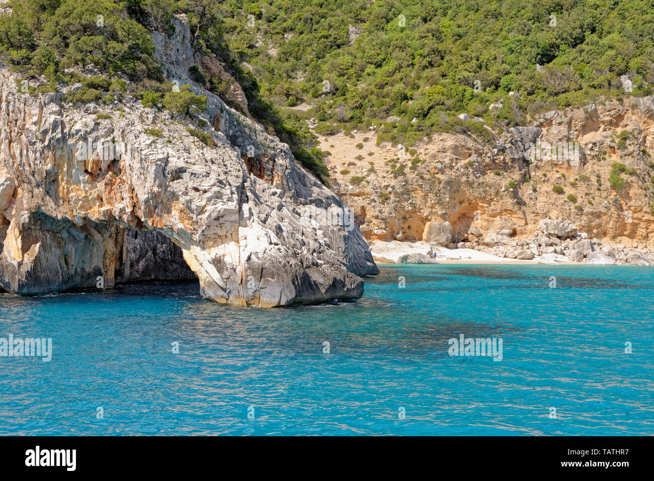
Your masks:
<path fill-rule="evenodd" d="M 579 165 L 516 158 L 515 152 L 524 152 L 524 141 L 514 131 L 490 142 L 436 134 L 395 164 L 404 164 L 404 174 L 392 172 L 390 161 L 398 158 L 398 148 L 376 146 L 374 132 L 323 137 L 320 148 L 332 153 L 328 167 L 334 190 L 354 209 L 368 240 L 422 240 L 429 222 L 444 220 L 453 226 L 453 242 L 463 240 L 470 225 L 484 235 L 511 229 L 523 237 L 550 217 L 571 220 L 604 242 L 647 243 L 654 233 L 654 163 L 642 150 L 654 154 L 652 98 L 601 104 L 547 112 L 531 124 L 541 129 L 541 142 L 580 142 Z M 633 135 L 618 148 L 625 130 Z M 359 142 L 363 148 L 357 148 Z M 413 158 L 421 161 L 412 167 Z M 636 174 L 622 174 L 626 186 L 619 192 L 609 184 L 614 161 L 636 169 Z M 352 185 L 356 176 L 363 180 Z M 509 188 L 511 180 L 516 188 Z M 564 193 L 553 192 L 555 185 Z M 576 204 L 566 199 L 568 194 L 577 197 Z"/>

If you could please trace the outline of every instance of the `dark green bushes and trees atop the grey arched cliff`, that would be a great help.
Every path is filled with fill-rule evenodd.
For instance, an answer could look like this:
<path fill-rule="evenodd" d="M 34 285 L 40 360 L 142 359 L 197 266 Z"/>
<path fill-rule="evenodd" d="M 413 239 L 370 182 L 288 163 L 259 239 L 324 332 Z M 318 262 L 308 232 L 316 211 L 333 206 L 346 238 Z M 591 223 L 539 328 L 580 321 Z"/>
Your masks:
<path fill-rule="evenodd" d="M 228 47 L 222 37 L 224 10 L 214 0 L 12 0 L 11 14 L 0 16 L 0 59 L 20 71 L 27 80 L 44 75 L 48 84 L 34 92 L 56 91 L 60 84 L 81 83 L 68 94 L 73 103 L 103 101 L 129 93 L 145 107 L 165 108 L 176 116 L 197 114 L 207 99 L 182 86 L 179 91 L 165 82 L 154 58 L 152 30 L 171 31 L 173 14 L 186 14 L 197 52 L 216 53 L 226 69 L 239 79 L 247 95 L 250 114 L 266 125 L 269 133 L 288 143 L 307 169 L 323 181 L 328 171 L 315 136 L 285 120 L 273 105 L 262 98 L 258 82 L 237 64 L 230 63 Z M 97 75 L 95 75 L 97 74 Z M 198 68 L 191 78 L 225 98 L 230 85 L 219 77 L 207 78 Z M 237 107 L 237 106 L 232 106 Z M 295 124 L 298 124 L 297 122 Z M 301 127 L 303 125 L 300 125 Z M 207 135 L 192 129 L 201 141 Z"/>

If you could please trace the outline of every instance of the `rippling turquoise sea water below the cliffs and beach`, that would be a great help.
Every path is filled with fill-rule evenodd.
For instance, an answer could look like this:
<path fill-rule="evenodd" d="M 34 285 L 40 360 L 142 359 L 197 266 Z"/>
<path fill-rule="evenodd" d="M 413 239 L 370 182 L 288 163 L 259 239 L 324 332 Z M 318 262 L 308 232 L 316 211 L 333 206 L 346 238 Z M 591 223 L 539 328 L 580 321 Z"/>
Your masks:
<path fill-rule="evenodd" d="M 0 295 L 0 337 L 53 350 L 0 357 L 0 434 L 654 434 L 654 270 L 380 268 L 359 301 L 268 310 L 197 283 Z M 450 356 L 460 334 L 502 360 Z"/>

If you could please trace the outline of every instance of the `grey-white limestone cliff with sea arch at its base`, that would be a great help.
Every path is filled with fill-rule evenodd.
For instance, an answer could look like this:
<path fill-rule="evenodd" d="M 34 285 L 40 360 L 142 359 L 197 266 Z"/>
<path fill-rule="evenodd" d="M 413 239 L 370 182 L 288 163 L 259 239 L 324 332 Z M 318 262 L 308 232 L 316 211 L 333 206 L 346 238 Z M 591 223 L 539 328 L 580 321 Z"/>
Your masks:
<path fill-rule="evenodd" d="M 235 305 L 362 295 L 378 273 L 364 237 L 320 215 L 347 206 L 286 144 L 194 89 L 208 97 L 205 127 L 128 96 L 75 108 L 65 89 L 20 93 L 0 65 L 0 286 L 197 276 L 203 295 Z"/>

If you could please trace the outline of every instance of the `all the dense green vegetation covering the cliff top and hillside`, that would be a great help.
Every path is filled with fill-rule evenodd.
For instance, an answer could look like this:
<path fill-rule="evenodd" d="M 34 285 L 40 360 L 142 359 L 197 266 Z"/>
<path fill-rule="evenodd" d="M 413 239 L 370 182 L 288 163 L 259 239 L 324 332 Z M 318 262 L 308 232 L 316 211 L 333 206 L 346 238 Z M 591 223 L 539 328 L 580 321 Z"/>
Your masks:
<path fill-rule="evenodd" d="M 13 14 L 0 16 L 0 49 L 27 77 L 46 75 L 55 90 L 57 82 L 80 80 L 71 67 L 93 67 L 131 82 L 82 76 L 74 100 L 111 101 L 127 89 L 143 105 L 178 115 L 201 109 L 202 100 L 186 91 L 172 95 L 148 31 L 167 31 L 173 14 L 188 15 L 194 49 L 220 59 L 241 84 L 250 114 L 323 180 L 328 173 L 310 118 L 318 135 L 374 124 L 378 142 L 411 145 L 434 131 L 492 135 L 457 118 L 462 113 L 496 129 L 543 110 L 624 95 L 621 75 L 630 77 L 633 95 L 653 91 L 653 0 L 11 4 Z M 190 75 L 226 97 L 224 78 L 207 78 L 198 68 Z M 500 100 L 501 108 L 489 110 Z M 291 108 L 301 103 L 313 106 Z M 387 122 L 389 116 L 401 120 Z"/>

